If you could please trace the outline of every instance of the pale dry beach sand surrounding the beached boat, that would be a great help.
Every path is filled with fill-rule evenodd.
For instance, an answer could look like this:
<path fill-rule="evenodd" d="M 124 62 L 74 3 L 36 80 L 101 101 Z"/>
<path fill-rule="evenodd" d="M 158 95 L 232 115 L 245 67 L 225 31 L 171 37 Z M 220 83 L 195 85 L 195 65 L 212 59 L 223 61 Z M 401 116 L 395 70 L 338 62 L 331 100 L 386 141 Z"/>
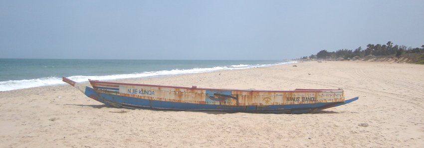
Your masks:
<path fill-rule="evenodd" d="M 347 105 L 314 114 L 205 113 L 111 108 L 69 85 L 0 92 L 0 147 L 424 146 L 424 66 L 303 62 L 119 80 L 177 86 L 343 88 Z M 367 123 L 368 127 L 358 124 Z"/>

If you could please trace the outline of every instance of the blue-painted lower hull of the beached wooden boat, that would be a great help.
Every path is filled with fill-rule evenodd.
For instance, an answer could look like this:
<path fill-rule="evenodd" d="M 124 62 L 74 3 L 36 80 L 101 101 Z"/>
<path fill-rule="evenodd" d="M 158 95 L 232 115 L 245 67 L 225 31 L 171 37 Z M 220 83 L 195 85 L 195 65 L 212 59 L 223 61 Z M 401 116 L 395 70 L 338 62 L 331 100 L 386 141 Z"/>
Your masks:
<path fill-rule="evenodd" d="M 116 108 L 130 109 L 150 109 L 150 110 L 174 110 L 174 111 L 218 111 L 218 112 L 248 112 L 248 113 L 275 113 L 275 114 L 302 114 L 319 111 L 343 104 L 350 103 L 358 99 L 358 97 L 345 100 L 342 102 L 325 102 L 325 103 L 306 103 L 306 104 L 289 104 L 289 105 L 214 105 L 214 104 L 197 104 L 182 103 L 171 101 L 159 101 L 143 98 L 134 98 L 108 93 L 97 93 L 93 88 L 86 87 L 85 94 L 99 102 Z"/>

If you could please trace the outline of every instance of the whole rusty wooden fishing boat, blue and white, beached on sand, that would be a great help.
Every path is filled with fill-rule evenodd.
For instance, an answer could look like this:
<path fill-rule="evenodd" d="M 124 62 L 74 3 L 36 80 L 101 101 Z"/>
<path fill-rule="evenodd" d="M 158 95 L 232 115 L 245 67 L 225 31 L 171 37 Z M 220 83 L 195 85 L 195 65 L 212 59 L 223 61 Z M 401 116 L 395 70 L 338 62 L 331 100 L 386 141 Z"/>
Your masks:
<path fill-rule="evenodd" d="M 342 89 L 241 90 L 131 84 L 89 80 L 92 87 L 63 77 L 88 97 L 117 108 L 310 113 L 350 103 Z"/>

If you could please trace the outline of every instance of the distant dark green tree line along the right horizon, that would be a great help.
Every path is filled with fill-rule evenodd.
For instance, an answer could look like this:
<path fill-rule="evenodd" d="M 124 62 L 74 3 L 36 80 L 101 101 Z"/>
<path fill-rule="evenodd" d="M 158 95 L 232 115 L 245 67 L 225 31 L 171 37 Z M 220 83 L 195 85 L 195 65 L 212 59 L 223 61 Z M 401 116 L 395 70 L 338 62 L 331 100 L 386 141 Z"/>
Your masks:
<path fill-rule="evenodd" d="M 402 54 L 408 53 L 419 53 L 424 54 L 424 45 L 421 48 L 412 48 L 405 45 L 393 45 L 391 41 L 386 44 L 368 44 L 367 49 L 363 50 L 358 47 L 355 50 L 340 49 L 335 52 L 328 52 L 327 50 L 321 50 L 316 55 L 309 57 L 301 57 L 302 59 L 353 59 L 363 58 L 365 56 L 396 56 L 400 57 Z"/>

